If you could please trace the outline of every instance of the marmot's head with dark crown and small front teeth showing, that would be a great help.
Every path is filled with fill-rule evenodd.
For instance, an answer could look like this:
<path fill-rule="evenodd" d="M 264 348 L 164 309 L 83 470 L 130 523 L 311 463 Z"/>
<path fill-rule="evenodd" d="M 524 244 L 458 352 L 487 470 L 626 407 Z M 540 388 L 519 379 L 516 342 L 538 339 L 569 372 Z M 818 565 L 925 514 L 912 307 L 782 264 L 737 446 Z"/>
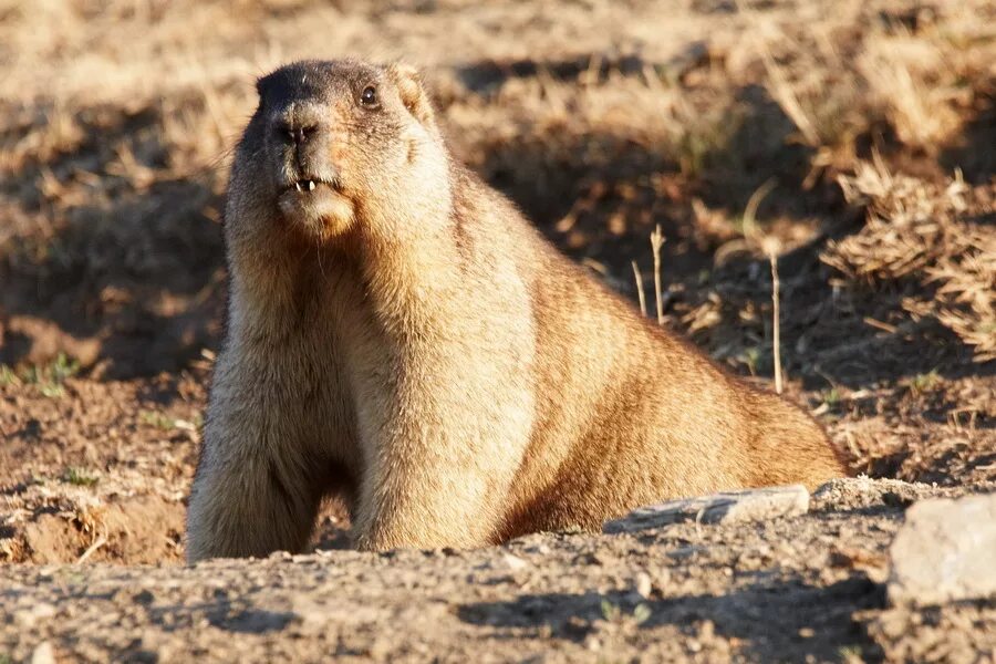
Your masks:
<path fill-rule="evenodd" d="M 425 179 L 446 153 L 413 68 L 297 62 L 257 90 L 232 166 L 229 237 L 259 239 L 269 230 L 259 225 L 282 225 L 328 241 L 433 195 Z"/>

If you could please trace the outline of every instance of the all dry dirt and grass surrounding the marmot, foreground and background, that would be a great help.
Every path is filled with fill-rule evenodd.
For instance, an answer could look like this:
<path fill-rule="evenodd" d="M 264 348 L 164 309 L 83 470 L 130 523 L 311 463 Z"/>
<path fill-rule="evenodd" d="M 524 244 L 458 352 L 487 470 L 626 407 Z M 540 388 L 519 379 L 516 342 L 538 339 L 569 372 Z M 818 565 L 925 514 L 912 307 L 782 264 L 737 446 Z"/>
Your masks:
<path fill-rule="evenodd" d="M 387 556 L 330 505 L 313 556 L 181 567 L 229 149 L 255 76 L 343 55 L 424 66 L 454 152 L 651 315 L 660 226 L 663 324 L 766 386 L 774 252 L 787 393 L 886 479 Z M 992 601 L 882 590 L 910 500 L 996 490 L 990 1 L 0 0 L 0 663 L 996 658 Z"/>

